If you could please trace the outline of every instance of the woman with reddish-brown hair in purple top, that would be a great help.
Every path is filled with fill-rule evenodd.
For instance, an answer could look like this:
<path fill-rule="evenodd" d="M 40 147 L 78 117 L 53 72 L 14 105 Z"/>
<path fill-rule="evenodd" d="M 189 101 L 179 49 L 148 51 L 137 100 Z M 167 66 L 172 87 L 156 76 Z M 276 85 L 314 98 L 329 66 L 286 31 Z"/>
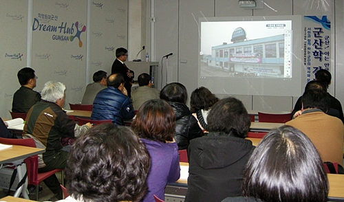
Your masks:
<path fill-rule="evenodd" d="M 147 177 L 148 192 L 141 201 L 164 199 L 166 183 L 180 178 L 178 146 L 173 139 L 175 113 L 164 100 L 144 102 L 131 124 L 151 155 L 151 169 Z"/>

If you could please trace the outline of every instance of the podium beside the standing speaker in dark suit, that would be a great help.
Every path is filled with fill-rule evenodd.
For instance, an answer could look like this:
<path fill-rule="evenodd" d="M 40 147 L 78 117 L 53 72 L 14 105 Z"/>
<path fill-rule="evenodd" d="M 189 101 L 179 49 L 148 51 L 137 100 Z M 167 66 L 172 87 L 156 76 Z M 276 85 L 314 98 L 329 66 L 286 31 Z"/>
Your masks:
<path fill-rule="evenodd" d="M 142 73 L 147 73 L 151 75 L 151 82 L 152 84 L 155 82 L 155 71 L 158 69 L 159 62 L 133 62 L 133 61 L 127 61 L 125 62 L 125 65 L 131 70 L 134 71 L 135 82 L 138 81 L 138 76 Z"/>

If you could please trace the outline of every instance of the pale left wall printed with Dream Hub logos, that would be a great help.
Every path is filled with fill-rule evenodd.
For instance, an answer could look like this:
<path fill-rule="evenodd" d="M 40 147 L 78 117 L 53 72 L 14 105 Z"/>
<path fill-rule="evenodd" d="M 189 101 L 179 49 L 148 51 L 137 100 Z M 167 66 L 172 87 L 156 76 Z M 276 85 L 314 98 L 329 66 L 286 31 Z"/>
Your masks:
<path fill-rule="evenodd" d="M 52 26 L 56 31 L 47 30 Z M 95 71 L 111 73 L 116 48 L 127 47 L 128 1 L 0 0 L 0 27 L 0 117 L 10 118 L 13 94 L 20 87 L 17 72 L 23 67 L 36 71 L 35 91 L 48 80 L 63 82 L 69 109 L 68 102 L 81 101 Z M 78 38 L 71 41 L 83 27 L 81 43 Z"/>

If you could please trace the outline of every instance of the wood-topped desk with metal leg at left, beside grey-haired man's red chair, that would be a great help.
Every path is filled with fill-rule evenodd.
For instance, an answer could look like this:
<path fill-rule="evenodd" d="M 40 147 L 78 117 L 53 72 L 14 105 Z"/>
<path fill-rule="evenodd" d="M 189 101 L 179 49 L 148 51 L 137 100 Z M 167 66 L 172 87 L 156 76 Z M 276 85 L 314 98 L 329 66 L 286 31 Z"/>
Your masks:
<path fill-rule="evenodd" d="M 12 163 L 17 166 L 18 180 L 21 181 L 26 172 L 26 165 L 23 164 L 24 159 L 33 155 L 39 155 L 41 153 L 45 153 L 44 148 L 13 145 L 12 148 L 0 150 L 0 164 Z M 28 178 L 26 178 L 25 183 L 14 193 L 14 197 L 19 197 L 22 193 L 25 199 L 30 199 L 28 196 L 27 188 Z"/>

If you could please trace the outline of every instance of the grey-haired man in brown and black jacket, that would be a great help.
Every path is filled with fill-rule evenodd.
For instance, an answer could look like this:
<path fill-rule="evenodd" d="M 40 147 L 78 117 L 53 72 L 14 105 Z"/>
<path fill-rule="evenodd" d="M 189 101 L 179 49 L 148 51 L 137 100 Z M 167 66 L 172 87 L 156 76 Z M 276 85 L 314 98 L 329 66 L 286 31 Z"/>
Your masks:
<path fill-rule="evenodd" d="M 87 123 L 78 126 L 68 118 L 62 107 L 65 104 L 65 85 L 48 81 L 42 90 L 42 100 L 31 107 L 25 120 L 23 138 L 32 137 L 45 148 L 39 161 L 39 172 L 65 168 L 68 153 L 60 140 L 62 137 L 78 137 L 92 127 Z M 60 182 L 55 175 L 44 180 L 57 199 L 62 199 Z"/>

